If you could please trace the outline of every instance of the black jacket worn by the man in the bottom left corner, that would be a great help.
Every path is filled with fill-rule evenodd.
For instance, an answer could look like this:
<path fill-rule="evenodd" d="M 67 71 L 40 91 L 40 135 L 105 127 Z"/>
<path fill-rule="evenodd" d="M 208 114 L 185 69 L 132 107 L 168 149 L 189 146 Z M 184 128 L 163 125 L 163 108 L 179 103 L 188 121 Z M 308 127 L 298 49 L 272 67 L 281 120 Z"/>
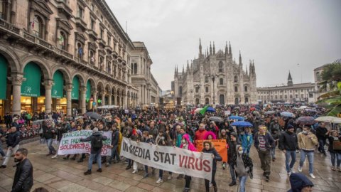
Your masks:
<path fill-rule="evenodd" d="M 31 161 L 24 159 L 16 164 L 16 174 L 14 175 L 12 192 L 31 191 L 33 186 L 33 166 Z"/>

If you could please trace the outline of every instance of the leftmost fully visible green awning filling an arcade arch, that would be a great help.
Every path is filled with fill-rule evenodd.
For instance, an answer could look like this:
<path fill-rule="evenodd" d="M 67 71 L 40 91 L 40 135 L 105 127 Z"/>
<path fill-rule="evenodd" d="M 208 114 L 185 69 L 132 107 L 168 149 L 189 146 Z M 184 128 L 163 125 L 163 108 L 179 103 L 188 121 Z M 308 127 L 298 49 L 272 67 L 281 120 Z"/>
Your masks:
<path fill-rule="evenodd" d="M 40 67 L 34 63 L 27 63 L 23 69 L 23 78 L 26 78 L 21 85 L 21 95 L 29 97 L 40 97 Z"/>

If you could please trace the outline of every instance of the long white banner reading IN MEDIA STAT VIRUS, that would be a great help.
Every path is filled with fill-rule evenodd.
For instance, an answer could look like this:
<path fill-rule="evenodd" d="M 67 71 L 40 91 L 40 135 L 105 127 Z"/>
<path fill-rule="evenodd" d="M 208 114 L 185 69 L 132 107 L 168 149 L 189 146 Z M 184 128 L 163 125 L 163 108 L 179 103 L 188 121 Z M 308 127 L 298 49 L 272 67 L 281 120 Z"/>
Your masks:
<path fill-rule="evenodd" d="M 173 146 L 137 143 L 124 137 L 120 155 L 163 171 L 208 180 L 212 178 L 212 154 L 201 154 Z"/>

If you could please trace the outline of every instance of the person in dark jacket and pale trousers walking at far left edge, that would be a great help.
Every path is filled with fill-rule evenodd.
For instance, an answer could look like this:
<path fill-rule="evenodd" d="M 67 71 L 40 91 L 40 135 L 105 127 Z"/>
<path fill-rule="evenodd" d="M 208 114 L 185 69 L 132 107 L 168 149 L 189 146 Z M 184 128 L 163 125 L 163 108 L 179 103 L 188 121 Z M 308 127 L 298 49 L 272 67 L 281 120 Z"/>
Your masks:
<path fill-rule="evenodd" d="M 11 129 L 9 129 L 9 132 L 7 132 L 6 137 L 7 153 L 4 162 L 2 163 L 0 168 L 6 168 L 11 155 L 14 153 L 14 151 L 17 151 L 19 149 L 20 133 L 18 132 L 16 127 L 11 127 Z"/>

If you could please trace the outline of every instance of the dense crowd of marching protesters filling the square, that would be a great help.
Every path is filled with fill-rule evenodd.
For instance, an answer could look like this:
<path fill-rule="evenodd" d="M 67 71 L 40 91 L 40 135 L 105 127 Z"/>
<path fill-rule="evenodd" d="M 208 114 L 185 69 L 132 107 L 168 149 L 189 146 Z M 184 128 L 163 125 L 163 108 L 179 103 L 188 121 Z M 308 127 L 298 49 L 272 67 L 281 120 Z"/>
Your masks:
<path fill-rule="evenodd" d="M 126 164 L 126 170 L 131 170 L 136 174 L 141 169 L 144 171 L 144 178 L 155 174 L 156 169 L 141 165 L 134 159 L 125 159 L 120 156 L 120 145 L 122 137 L 127 137 L 136 142 L 146 142 L 148 144 L 157 144 L 160 146 L 175 146 L 182 149 L 197 151 L 196 140 L 205 140 L 202 153 L 212 154 L 212 179 L 205 180 L 206 191 L 210 187 L 217 191 L 215 182 L 215 172 L 217 166 L 221 169 L 229 169 L 232 181 L 229 186 L 237 185 L 239 181 L 239 191 L 245 191 L 245 182 L 247 178 L 253 177 L 253 159 L 249 155 L 251 147 L 255 147 L 261 161 L 261 169 L 264 171 L 265 181 L 271 179 L 271 161 L 276 161 L 276 148 L 283 151 L 286 156 L 286 171 L 288 175 L 295 179 L 305 179 L 301 174 L 296 174 L 293 166 L 296 163 L 296 154 L 300 154 L 298 172 L 303 169 L 303 163 L 308 158 L 309 176 L 314 175 L 314 154 L 316 149 L 320 154 L 327 156 L 325 145 L 328 144 L 328 151 L 331 159 L 331 169 L 341 171 L 341 149 L 337 148 L 341 141 L 339 136 L 340 126 L 337 124 L 328 124 L 324 122 L 299 122 L 299 117 L 318 117 L 325 109 L 318 106 L 308 108 L 297 108 L 294 105 L 226 105 L 216 106 L 215 111 L 195 112 L 194 108 L 185 107 L 183 109 L 153 109 L 153 110 L 106 110 L 98 112 L 100 118 L 94 119 L 83 115 L 80 117 L 67 117 L 61 113 L 49 115 L 38 115 L 45 119 L 38 124 L 38 135 L 48 146 L 47 156 L 52 159 L 58 158 L 57 150 L 53 146 L 53 141 L 62 139 L 66 132 L 75 132 L 82 129 L 92 130 L 92 135 L 81 142 L 91 142 L 92 148 L 88 161 L 88 169 L 85 175 L 92 174 L 92 164 L 97 164 L 97 172 L 102 172 L 102 164 L 111 166 L 121 162 Z M 309 110 L 307 110 L 309 109 Z M 292 115 L 283 116 L 281 112 L 290 112 Z M 22 116 L 22 115 L 21 115 Z M 25 114 L 27 116 L 27 114 Z M 34 116 L 34 115 L 33 115 Z M 38 118 L 40 118 L 38 117 Z M 219 117 L 221 120 L 210 120 L 212 117 Z M 236 118 L 251 124 L 248 126 L 233 126 L 238 121 Z M 216 119 L 219 119 L 216 118 Z M 6 144 L 8 146 L 7 154 L 0 148 L 1 156 L 4 156 L 4 162 L 1 168 L 6 168 L 9 158 L 13 151 L 19 147 L 21 133 L 23 130 L 18 124 L 22 117 L 13 117 L 12 122 L 4 127 L 0 137 L 6 135 Z M 31 119 L 26 118 L 26 125 L 31 125 Z M 18 126 L 17 126 L 18 124 Z M 34 124 L 34 123 L 33 123 Z M 7 129 L 8 130 L 7 130 Z M 40 131 L 39 131 L 40 130 Z M 27 130 L 26 130 L 27 131 Z M 112 131 L 112 149 L 111 156 L 101 156 L 102 141 L 107 139 L 102 132 Z M 227 143 L 227 162 L 221 164 L 222 156 L 217 153 L 211 139 L 225 139 Z M 79 159 L 77 159 L 79 157 Z M 60 156 L 65 160 L 77 159 L 82 162 L 87 158 L 86 154 L 73 154 Z M 295 174 L 294 174 L 295 173 Z M 174 174 L 168 172 L 167 179 L 164 178 L 164 171 L 158 171 L 158 180 L 156 183 L 162 183 L 173 179 Z M 185 178 L 184 191 L 190 190 L 191 176 L 178 175 L 177 179 Z M 302 182 L 303 183 L 303 182 Z M 311 188 L 313 183 L 308 183 L 302 188 Z"/>

